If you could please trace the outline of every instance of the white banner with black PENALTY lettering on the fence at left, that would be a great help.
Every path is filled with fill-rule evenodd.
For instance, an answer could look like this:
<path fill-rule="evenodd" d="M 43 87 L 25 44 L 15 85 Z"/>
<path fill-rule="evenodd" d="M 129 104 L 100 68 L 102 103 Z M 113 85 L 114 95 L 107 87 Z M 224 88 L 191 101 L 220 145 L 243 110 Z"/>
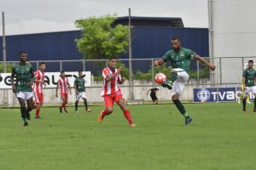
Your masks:
<path fill-rule="evenodd" d="M 45 79 L 44 82 L 46 82 L 45 88 L 56 88 L 58 79 L 60 77 L 60 72 L 45 72 Z M 68 78 L 68 82 L 71 87 L 73 87 L 73 82 L 76 77 L 79 77 L 79 72 L 65 72 L 66 77 Z M 12 88 L 11 82 L 10 82 L 10 76 L 11 73 L 2 73 L 1 76 L 3 77 L 2 82 L 0 82 L 0 88 Z M 88 87 L 91 85 L 90 82 L 90 71 L 83 71 L 84 76 L 84 82 L 85 87 Z"/>

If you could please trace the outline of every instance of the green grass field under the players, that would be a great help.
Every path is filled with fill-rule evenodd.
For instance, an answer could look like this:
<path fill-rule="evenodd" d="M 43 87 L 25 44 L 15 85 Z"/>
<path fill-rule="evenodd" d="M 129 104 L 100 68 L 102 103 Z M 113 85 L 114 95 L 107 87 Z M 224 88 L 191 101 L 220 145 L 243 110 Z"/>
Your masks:
<path fill-rule="evenodd" d="M 43 108 L 23 127 L 18 109 L 0 110 L 0 169 L 255 169 L 256 113 L 238 104 L 187 104 L 194 120 L 183 125 L 174 105 L 128 106 L 137 127 L 119 108 L 102 123 L 102 106 L 68 114 Z M 34 115 L 34 111 L 32 111 Z"/>

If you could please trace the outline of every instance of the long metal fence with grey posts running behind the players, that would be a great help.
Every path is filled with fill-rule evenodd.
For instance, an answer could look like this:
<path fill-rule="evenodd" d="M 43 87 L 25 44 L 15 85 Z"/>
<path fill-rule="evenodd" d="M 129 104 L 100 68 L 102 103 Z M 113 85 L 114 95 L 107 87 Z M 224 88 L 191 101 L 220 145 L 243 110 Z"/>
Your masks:
<path fill-rule="evenodd" d="M 209 87 L 234 87 L 241 84 L 241 74 L 242 71 L 247 66 L 247 61 L 249 59 L 255 59 L 254 57 L 224 57 L 224 58 L 206 58 L 209 59 L 214 65 L 216 65 L 215 71 L 210 71 L 209 77 L 200 77 L 200 71 L 204 68 L 198 61 L 191 60 L 191 68 L 195 70 L 196 77 L 189 80 L 184 89 L 183 99 L 191 100 L 191 91 L 193 88 L 209 88 Z M 122 85 L 122 90 L 128 100 L 150 100 L 149 96 L 145 95 L 148 88 L 156 86 L 154 82 L 154 75 L 158 73 L 154 68 L 155 59 L 132 59 L 129 65 L 129 59 L 119 59 L 126 69 L 132 68 L 132 75 L 128 75 L 128 79 L 124 85 Z M 19 61 L 8 61 L 7 70 L 10 71 L 9 67 L 18 63 Z M 38 69 L 41 60 L 30 61 L 34 70 Z M 96 77 L 101 77 L 102 69 L 108 65 L 108 59 L 81 59 L 81 60 L 44 60 L 47 65 L 46 71 L 91 71 L 92 86 L 87 88 L 88 100 L 89 102 L 100 102 L 102 101 L 100 97 L 100 90 L 102 88 L 102 82 Z M 3 62 L 0 63 L 3 65 Z M 170 65 L 167 63 L 167 67 Z M 142 74 L 150 74 L 150 79 L 139 80 L 134 79 L 134 74 L 140 71 Z M 128 71 L 129 74 L 130 71 Z M 169 75 L 167 75 L 169 77 Z M 3 83 L 3 82 L 0 82 Z M 53 88 L 45 88 L 44 94 L 52 94 Z M 166 89 L 162 89 L 159 96 L 160 100 L 170 99 L 169 92 Z M 16 105 L 17 101 L 15 95 L 12 94 L 11 89 L 3 89 L 0 87 L 0 105 Z M 166 96 L 166 97 L 165 97 Z M 75 97 L 71 98 L 73 102 Z M 60 99 L 50 99 L 46 100 L 46 104 L 56 105 L 60 102 Z"/>

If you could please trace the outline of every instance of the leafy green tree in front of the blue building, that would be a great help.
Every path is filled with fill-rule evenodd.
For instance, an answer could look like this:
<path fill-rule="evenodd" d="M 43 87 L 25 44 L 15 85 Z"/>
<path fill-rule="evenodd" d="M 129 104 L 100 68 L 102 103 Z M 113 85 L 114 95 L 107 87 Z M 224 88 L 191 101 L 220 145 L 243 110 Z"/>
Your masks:
<path fill-rule="evenodd" d="M 115 19 L 115 14 L 108 14 L 75 22 L 82 31 L 82 37 L 75 41 L 79 51 L 84 54 L 84 59 L 109 59 L 127 52 L 128 26 L 113 27 Z"/>

